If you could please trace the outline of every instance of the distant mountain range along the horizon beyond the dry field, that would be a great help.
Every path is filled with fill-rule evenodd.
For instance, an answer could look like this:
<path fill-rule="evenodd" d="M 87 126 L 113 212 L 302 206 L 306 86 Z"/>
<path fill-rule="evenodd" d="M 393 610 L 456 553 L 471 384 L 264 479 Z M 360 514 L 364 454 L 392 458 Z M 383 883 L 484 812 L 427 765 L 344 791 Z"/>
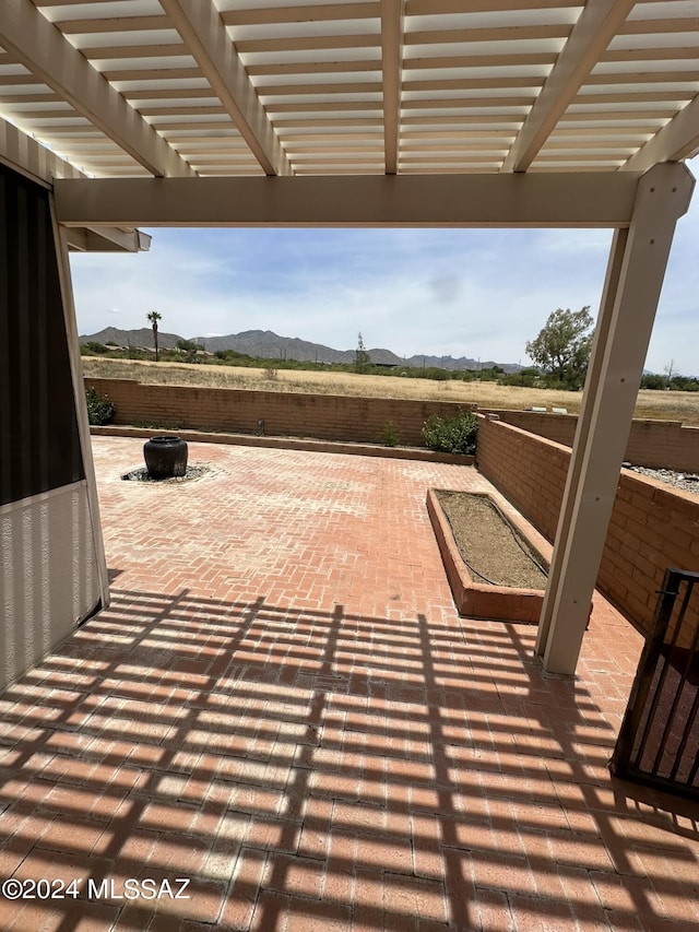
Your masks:
<path fill-rule="evenodd" d="M 189 339 L 199 343 L 208 353 L 224 350 L 235 350 L 249 356 L 260 356 L 265 359 L 296 359 L 304 363 L 354 363 L 355 350 L 333 350 L 322 343 L 311 343 L 297 337 L 280 337 L 271 330 L 244 330 L 241 333 L 230 333 L 227 337 L 190 337 L 183 338 L 177 333 L 166 333 L 158 330 L 157 340 L 162 350 L 175 350 L 180 340 Z M 118 330 L 106 327 L 98 333 L 81 337 L 81 343 L 114 343 L 117 346 L 132 346 L 141 350 L 153 349 L 153 331 L 150 327 L 140 330 Z M 481 362 L 466 356 L 398 356 L 390 350 L 374 347 L 367 350 L 372 363 L 383 366 L 438 366 L 442 369 L 487 369 L 498 365 L 506 373 L 520 369 L 517 363 L 495 363 L 491 359 Z"/>

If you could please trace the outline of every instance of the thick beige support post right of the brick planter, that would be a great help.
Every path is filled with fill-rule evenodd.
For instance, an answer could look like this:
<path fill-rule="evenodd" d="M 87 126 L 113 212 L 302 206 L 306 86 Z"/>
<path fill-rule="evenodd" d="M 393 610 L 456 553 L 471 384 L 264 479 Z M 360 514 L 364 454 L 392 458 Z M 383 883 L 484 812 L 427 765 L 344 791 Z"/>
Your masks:
<path fill-rule="evenodd" d="M 656 165 L 639 181 L 628 232 L 614 239 L 536 645 L 553 673 L 576 672 L 675 224 L 692 188 L 683 164 Z"/>

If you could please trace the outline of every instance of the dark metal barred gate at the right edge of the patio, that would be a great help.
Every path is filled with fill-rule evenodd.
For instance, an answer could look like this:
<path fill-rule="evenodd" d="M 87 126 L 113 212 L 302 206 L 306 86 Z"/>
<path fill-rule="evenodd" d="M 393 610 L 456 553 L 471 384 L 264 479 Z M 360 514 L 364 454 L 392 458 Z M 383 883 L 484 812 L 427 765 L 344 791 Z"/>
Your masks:
<path fill-rule="evenodd" d="M 692 799 L 699 799 L 697 583 L 699 573 L 665 573 L 609 764 L 617 777 Z"/>

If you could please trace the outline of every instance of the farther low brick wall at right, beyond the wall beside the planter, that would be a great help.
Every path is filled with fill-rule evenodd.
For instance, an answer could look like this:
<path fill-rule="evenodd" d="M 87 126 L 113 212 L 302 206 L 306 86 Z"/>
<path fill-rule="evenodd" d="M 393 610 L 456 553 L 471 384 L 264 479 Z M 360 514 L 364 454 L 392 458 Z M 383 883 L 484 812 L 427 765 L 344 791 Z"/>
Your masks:
<path fill-rule="evenodd" d="M 485 412 L 490 409 L 483 409 Z M 557 444 L 572 447 L 578 425 L 576 414 L 542 414 L 537 411 L 495 411 L 506 424 L 530 430 Z M 699 472 L 699 427 L 682 421 L 643 421 L 631 425 L 626 459 L 633 465 Z"/>

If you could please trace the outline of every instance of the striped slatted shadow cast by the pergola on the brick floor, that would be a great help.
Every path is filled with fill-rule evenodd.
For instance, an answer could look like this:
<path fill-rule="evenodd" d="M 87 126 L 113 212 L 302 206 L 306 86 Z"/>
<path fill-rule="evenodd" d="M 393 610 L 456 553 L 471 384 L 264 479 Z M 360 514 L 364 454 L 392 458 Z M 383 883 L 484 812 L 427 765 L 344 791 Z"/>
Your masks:
<path fill-rule="evenodd" d="M 677 928 L 697 813 L 627 801 L 611 725 L 533 638 L 116 590 L 2 697 L 3 874 L 83 886 L 0 918 Z M 127 877 L 187 877 L 190 898 L 86 898 Z"/>

